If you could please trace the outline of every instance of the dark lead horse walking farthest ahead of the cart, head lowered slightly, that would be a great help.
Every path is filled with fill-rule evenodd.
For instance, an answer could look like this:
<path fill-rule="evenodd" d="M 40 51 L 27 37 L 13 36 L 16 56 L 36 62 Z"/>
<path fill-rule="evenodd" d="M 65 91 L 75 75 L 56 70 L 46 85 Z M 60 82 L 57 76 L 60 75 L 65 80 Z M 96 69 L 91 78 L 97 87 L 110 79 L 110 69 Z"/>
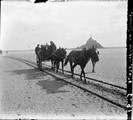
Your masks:
<path fill-rule="evenodd" d="M 67 56 L 67 59 L 66 59 L 64 65 L 66 65 L 68 63 L 68 61 L 70 62 L 72 78 L 73 78 L 73 74 L 74 74 L 74 68 L 77 65 L 80 65 L 80 67 L 81 67 L 80 79 L 82 80 L 82 74 L 83 74 L 84 81 L 86 83 L 84 68 L 85 68 L 86 64 L 88 63 L 88 61 L 91 59 L 92 64 L 93 64 L 92 72 L 94 72 L 94 66 L 95 66 L 96 62 L 99 61 L 98 54 L 99 54 L 99 52 L 97 52 L 94 47 L 92 49 L 88 49 L 88 50 L 83 49 L 81 51 L 71 51 L 69 53 L 69 55 Z"/>

